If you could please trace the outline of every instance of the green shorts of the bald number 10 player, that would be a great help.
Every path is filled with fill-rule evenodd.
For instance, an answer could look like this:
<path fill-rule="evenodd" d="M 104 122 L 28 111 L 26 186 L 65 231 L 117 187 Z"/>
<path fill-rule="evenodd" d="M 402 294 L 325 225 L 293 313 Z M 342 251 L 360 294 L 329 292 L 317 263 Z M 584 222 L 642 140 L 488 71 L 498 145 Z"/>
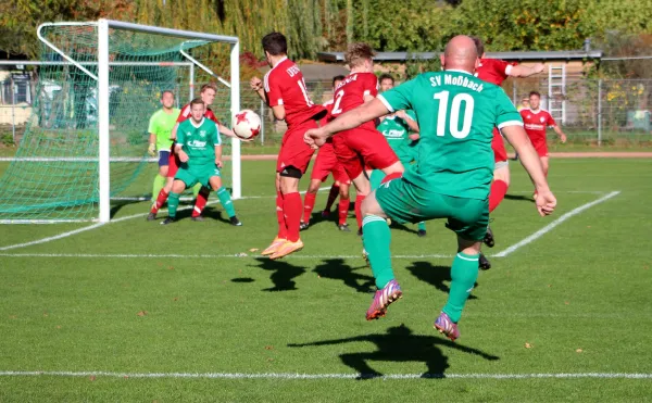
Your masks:
<path fill-rule="evenodd" d="M 468 241 L 481 241 L 489 225 L 489 200 L 456 198 L 417 188 L 403 178 L 376 189 L 387 216 L 400 224 L 448 218 L 449 228 Z"/>

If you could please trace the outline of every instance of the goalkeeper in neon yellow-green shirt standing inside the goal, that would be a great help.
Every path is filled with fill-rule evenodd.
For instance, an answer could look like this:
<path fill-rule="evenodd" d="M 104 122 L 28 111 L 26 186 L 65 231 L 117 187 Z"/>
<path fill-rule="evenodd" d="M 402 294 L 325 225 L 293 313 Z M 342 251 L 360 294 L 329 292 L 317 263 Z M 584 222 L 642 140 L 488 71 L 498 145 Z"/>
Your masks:
<path fill-rule="evenodd" d="M 152 188 L 152 202 L 156 200 L 159 192 L 167 180 L 167 167 L 170 166 L 170 147 L 172 147 L 172 128 L 176 125 L 179 110 L 174 108 L 174 93 L 165 90 L 161 93 L 161 108 L 150 117 L 148 133 L 150 134 L 148 152 L 156 156 L 159 151 L 159 174 L 154 178 Z M 172 181 L 172 178 L 170 178 Z"/>

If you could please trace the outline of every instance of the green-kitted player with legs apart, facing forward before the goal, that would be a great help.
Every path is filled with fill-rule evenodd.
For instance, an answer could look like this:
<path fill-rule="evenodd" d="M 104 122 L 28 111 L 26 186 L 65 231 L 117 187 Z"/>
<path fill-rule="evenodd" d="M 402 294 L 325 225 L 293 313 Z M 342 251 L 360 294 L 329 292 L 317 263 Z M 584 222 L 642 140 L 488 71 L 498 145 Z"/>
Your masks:
<path fill-rule="evenodd" d="M 217 193 L 231 225 L 242 225 L 236 217 L 228 190 L 222 186 L 222 140 L 215 122 L 204 117 L 206 105 L 201 98 L 193 99 L 190 102 L 191 117 L 177 127 L 174 153 L 178 155 L 181 164 L 167 199 L 168 217 L 161 223 L 162 225 L 174 223 L 181 192 L 198 182 Z"/>

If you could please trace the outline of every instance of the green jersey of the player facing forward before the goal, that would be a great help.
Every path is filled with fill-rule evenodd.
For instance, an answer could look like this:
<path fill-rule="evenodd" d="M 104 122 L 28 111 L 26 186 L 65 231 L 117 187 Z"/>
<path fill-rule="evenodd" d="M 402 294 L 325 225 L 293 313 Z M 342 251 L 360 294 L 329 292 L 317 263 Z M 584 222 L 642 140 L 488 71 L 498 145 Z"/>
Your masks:
<path fill-rule="evenodd" d="M 179 123 L 177 143 L 188 154 L 188 166 L 215 163 L 215 146 L 222 146 L 215 122 L 202 117 L 199 125 L 192 118 Z"/>

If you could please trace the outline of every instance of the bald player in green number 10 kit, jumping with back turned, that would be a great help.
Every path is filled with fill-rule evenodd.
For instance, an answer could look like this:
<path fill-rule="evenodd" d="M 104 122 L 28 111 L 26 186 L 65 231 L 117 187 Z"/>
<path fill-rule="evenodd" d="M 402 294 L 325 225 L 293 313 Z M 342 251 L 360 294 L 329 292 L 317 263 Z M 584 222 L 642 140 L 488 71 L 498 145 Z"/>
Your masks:
<path fill-rule="evenodd" d="M 500 87 L 473 76 L 478 65 L 473 40 L 467 36 L 451 39 L 441 64 L 443 72 L 422 74 L 324 127 L 309 130 L 304 138 L 321 146 L 340 130 L 393 111 L 414 110 L 421 127 L 416 166 L 406 169 L 402 178 L 383 184 L 362 205 L 363 241 L 378 287 L 366 317 L 385 316 L 389 304 L 402 295 L 391 269 L 386 217 L 402 223 L 448 218 L 448 227 L 457 235 L 457 254 L 451 267 L 449 299 L 434 326 L 455 340 L 460 337 L 457 322 L 478 276 L 480 245 L 489 223 L 494 126 L 518 151 L 539 192 L 539 214 L 552 214 L 556 200 L 507 96 Z"/>

